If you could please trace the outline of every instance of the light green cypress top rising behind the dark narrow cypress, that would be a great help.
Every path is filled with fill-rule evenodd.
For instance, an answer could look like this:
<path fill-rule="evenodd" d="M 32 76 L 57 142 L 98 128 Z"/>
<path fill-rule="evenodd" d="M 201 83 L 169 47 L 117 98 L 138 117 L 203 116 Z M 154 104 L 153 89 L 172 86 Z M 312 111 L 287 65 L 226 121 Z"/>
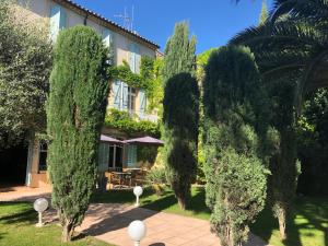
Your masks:
<path fill-rule="evenodd" d="M 189 26 L 186 22 L 175 25 L 174 34 L 168 38 L 165 47 L 165 62 L 163 68 L 164 83 L 181 72 L 196 75 L 196 37 L 189 39 Z"/>

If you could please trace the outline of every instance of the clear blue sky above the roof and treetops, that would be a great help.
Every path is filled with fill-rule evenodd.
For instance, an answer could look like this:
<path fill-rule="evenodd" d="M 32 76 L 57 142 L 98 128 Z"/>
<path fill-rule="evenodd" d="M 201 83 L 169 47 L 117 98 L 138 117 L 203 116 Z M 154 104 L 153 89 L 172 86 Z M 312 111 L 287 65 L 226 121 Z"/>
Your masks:
<path fill-rule="evenodd" d="M 245 27 L 257 24 L 262 0 L 74 0 L 74 2 L 122 24 L 114 15 L 131 12 L 133 30 L 164 50 L 174 24 L 187 20 L 190 33 L 197 36 L 197 52 L 225 45 Z M 267 0 L 270 8 L 272 0 Z"/>

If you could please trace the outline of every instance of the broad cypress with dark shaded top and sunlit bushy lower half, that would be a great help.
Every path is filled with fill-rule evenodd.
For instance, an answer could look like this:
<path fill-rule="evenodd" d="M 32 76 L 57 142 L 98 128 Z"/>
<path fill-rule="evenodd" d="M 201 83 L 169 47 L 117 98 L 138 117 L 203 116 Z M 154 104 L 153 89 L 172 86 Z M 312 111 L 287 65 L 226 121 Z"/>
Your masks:
<path fill-rule="evenodd" d="M 212 52 L 203 84 L 207 204 L 223 245 L 241 245 L 262 210 L 268 175 L 268 99 L 248 48 Z"/>

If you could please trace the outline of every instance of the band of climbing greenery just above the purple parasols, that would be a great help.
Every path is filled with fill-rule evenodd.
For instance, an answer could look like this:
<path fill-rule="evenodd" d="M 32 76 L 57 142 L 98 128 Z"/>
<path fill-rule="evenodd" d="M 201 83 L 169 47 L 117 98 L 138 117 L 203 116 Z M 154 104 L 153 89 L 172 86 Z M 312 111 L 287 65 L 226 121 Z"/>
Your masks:
<path fill-rule="evenodd" d="M 133 119 L 128 112 L 122 112 L 115 108 L 112 108 L 109 114 L 106 115 L 105 126 L 108 128 L 122 130 L 128 134 L 145 133 L 155 138 L 161 136 L 157 124 L 149 120 Z"/>

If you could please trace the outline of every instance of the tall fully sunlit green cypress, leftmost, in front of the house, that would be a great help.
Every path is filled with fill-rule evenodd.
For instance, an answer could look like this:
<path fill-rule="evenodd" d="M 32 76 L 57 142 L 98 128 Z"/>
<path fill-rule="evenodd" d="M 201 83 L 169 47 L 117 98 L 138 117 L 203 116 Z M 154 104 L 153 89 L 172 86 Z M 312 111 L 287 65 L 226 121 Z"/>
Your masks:
<path fill-rule="evenodd" d="M 47 103 L 52 206 L 70 241 L 82 223 L 96 179 L 99 131 L 108 95 L 107 56 L 90 27 L 60 32 Z"/>

